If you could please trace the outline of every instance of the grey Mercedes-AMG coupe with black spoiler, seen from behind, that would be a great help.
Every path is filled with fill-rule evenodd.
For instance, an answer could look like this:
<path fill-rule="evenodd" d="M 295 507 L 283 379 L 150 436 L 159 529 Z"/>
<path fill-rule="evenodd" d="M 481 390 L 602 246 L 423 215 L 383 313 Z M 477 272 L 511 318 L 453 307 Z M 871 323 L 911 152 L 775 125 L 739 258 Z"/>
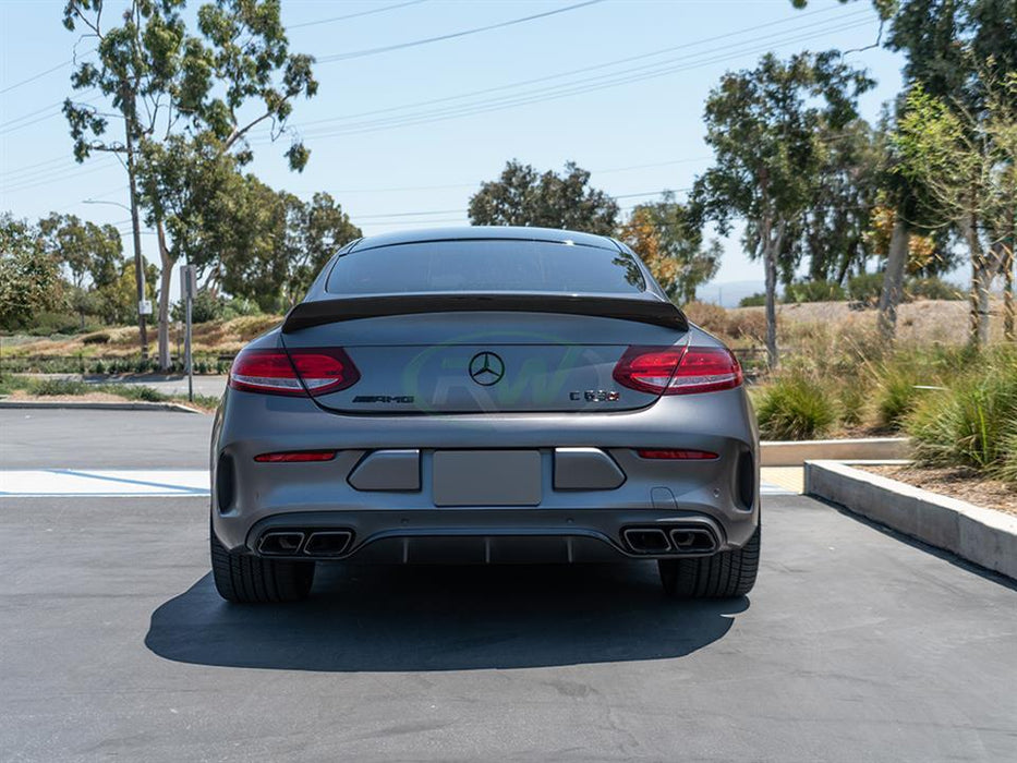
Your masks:
<path fill-rule="evenodd" d="M 343 246 L 237 355 L 211 480 L 231 602 L 303 598 L 327 561 L 645 559 L 676 597 L 741 596 L 759 567 L 738 361 L 588 233 Z"/>

